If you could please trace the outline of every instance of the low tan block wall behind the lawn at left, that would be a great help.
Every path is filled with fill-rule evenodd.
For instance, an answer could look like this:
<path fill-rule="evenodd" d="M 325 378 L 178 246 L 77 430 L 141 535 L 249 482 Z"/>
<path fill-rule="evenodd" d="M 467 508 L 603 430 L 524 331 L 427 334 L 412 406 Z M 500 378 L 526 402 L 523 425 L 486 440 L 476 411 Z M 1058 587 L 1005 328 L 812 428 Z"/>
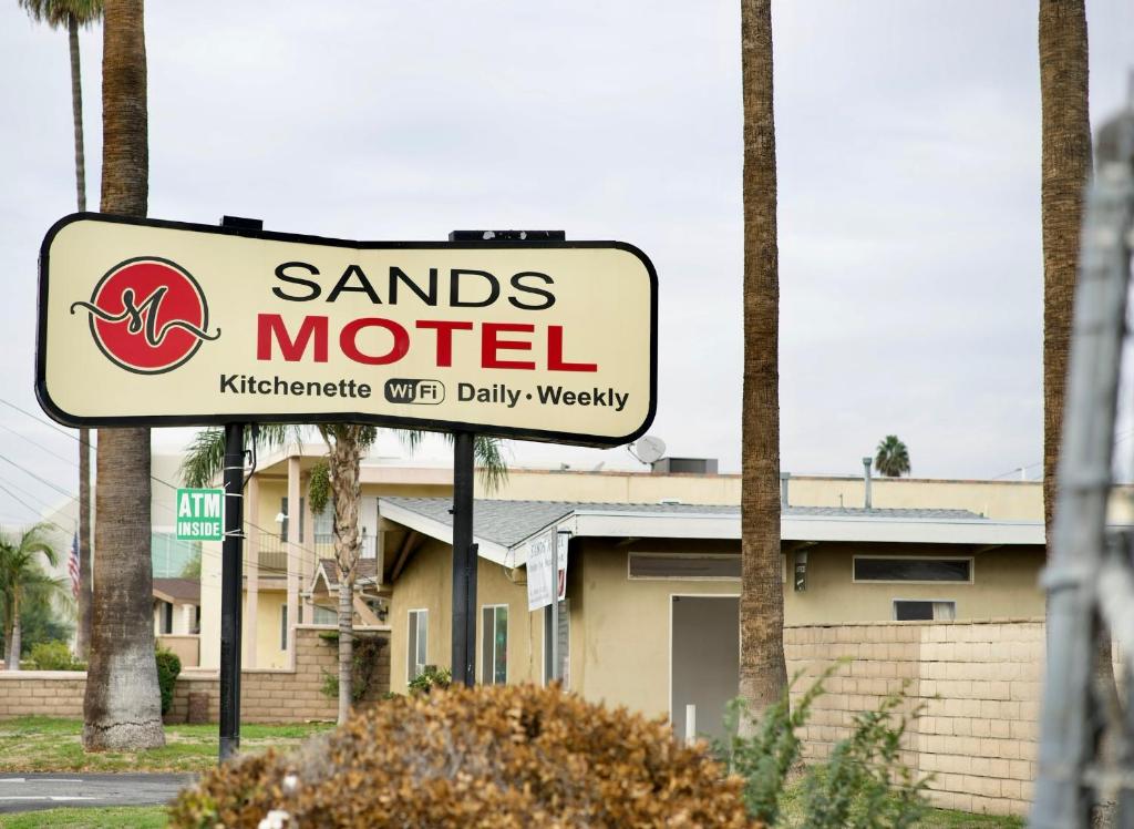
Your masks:
<path fill-rule="evenodd" d="M 322 692 L 325 673 L 338 672 L 338 646 L 320 634 L 331 626 L 296 628 L 295 670 L 247 670 L 240 675 L 243 722 L 305 722 L 333 720 L 338 700 Z M 365 628 L 363 629 L 365 630 Z M 390 643 L 378 654 L 378 667 L 363 703 L 380 698 L 390 689 Z M 66 717 L 82 719 L 85 671 L 0 671 L 0 720 L 15 717 Z M 166 722 L 185 722 L 191 692 L 209 695 L 209 717 L 220 720 L 220 677 L 217 671 L 185 670 L 174 688 L 174 705 Z"/>

